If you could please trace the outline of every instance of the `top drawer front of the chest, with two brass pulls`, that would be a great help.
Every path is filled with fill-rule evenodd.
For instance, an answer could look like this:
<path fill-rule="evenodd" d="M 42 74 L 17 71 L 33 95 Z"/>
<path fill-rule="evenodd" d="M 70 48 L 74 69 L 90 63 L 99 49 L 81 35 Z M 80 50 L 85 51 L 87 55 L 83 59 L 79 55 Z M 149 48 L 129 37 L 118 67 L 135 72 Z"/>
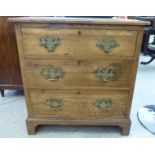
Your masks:
<path fill-rule="evenodd" d="M 98 59 L 133 57 L 137 31 L 23 28 L 26 57 Z"/>

